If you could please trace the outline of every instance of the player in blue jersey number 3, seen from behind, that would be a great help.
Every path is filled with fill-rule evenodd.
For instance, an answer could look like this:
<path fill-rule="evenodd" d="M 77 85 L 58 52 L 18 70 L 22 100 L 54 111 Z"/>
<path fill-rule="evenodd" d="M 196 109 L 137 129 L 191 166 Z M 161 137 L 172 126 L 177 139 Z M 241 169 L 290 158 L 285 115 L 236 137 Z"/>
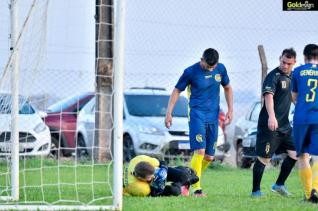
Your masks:
<path fill-rule="evenodd" d="M 305 64 L 295 68 L 292 78 L 293 133 L 305 200 L 318 203 L 318 161 L 309 163 L 310 155 L 318 155 L 318 45 L 306 45 L 303 53 Z"/>

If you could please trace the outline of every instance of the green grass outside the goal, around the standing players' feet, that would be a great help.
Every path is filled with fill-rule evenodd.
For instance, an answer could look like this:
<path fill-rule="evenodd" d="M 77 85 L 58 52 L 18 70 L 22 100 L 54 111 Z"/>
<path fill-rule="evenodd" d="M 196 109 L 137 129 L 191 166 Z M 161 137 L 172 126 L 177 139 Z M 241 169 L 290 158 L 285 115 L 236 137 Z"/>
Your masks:
<path fill-rule="evenodd" d="M 137 198 L 124 197 L 124 210 L 318 210 L 318 205 L 304 203 L 303 191 L 294 170 L 286 183 L 293 195 L 281 197 L 270 191 L 275 182 L 278 169 L 265 171 L 262 191 L 265 196 L 260 199 L 250 197 L 252 187 L 252 170 L 240 170 L 230 166 L 215 165 L 203 176 L 203 188 L 206 198 L 162 197 Z"/>

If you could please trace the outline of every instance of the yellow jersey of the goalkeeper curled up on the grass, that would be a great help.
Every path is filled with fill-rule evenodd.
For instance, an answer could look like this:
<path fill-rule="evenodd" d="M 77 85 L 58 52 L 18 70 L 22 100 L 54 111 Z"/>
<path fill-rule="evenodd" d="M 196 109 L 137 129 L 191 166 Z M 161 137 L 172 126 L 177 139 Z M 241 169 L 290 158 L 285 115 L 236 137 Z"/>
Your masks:
<path fill-rule="evenodd" d="M 150 185 L 147 182 L 138 180 L 134 175 L 135 166 L 145 161 L 150 163 L 153 167 L 158 168 L 160 163 L 156 158 L 147 155 L 138 155 L 134 157 L 124 170 L 124 195 L 129 196 L 148 196 L 150 194 Z"/>

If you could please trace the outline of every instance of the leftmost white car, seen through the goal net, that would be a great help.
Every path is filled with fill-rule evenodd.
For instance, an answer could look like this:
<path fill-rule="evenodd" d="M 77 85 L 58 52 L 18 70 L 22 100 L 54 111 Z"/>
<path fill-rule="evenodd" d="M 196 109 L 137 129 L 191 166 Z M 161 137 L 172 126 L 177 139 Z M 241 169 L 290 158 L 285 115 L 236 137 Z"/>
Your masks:
<path fill-rule="evenodd" d="M 11 95 L 0 94 L 0 156 L 11 154 Z M 20 156 L 46 156 L 50 153 L 51 135 L 39 113 L 19 97 Z"/>

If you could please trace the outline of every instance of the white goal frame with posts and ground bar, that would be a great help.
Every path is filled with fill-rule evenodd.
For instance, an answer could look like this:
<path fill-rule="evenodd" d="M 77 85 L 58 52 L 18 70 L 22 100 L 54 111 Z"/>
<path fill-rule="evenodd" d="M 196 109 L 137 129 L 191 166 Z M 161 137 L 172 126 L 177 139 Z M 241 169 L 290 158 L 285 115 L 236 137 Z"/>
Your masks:
<path fill-rule="evenodd" d="M 33 1 L 33 4 L 36 0 Z M 12 106 L 12 125 L 11 125 L 11 140 L 12 140 L 12 150 L 11 150 L 11 186 L 12 192 L 11 196 L 0 197 L 0 200 L 11 201 L 10 203 L 15 204 L 1 204 L 0 210 L 121 210 L 122 209 L 122 192 L 123 192 L 123 82 L 124 82 L 124 46 L 125 46 L 125 0 L 115 0 L 114 1 L 114 14 L 115 14 L 115 24 L 114 24 L 114 153 L 113 153 L 113 204 L 112 205 L 35 205 L 35 204 L 19 204 L 19 128 L 18 128 L 18 96 L 19 96 L 19 84 L 17 83 L 19 78 L 19 64 L 18 64 L 18 39 L 16 36 L 17 31 L 17 21 L 16 15 L 17 11 L 15 8 L 16 0 L 11 0 L 11 44 L 12 51 L 9 58 L 8 64 L 11 64 L 12 69 L 9 69 L 12 74 L 12 96 L 13 96 L 13 106 Z M 32 8 L 30 9 L 32 11 Z M 23 29 L 21 30 L 21 33 Z M 20 33 L 20 34 L 21 34 Z M 8 70 L 9 65 L 7 65 L 4 73 Z M 1 82 L 1 81 L 0 81 Z M 13 83 L 14 82 L 14 83 Z"/>

